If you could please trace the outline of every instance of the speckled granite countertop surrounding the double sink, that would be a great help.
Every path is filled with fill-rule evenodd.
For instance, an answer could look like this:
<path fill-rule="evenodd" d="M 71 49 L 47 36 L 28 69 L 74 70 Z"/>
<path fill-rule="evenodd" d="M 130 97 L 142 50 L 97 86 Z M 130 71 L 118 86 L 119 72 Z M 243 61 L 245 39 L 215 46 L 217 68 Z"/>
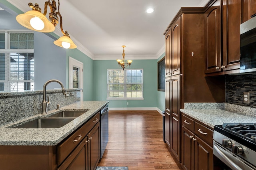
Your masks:
<path fill-rule="evenodd" d="M 61 107 L 60 110 L 49 111 L 47 115 L 38 114 L 33 117 L 29 117 L 28 119 L 0 127 L 0 145 L 57 145 L 98 111 L 100 111 L 100 109 L 103 108 L 107 103 L 108 101 L 79 101 Z M 20 125 L 39 117 L 47 117 L 64 110 L 88 111 L 60 128 L 10 128 L 16 126 L 17 124 Z"/>

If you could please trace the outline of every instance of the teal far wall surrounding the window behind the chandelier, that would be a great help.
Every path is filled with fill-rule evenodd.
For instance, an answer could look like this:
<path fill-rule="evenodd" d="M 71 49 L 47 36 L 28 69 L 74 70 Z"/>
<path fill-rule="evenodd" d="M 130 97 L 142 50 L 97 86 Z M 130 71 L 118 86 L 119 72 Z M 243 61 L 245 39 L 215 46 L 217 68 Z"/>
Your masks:
<path fill-rule="evenodd" d="M 132 69 L 143 69 L 144 100 L 110 100 L 109 107 L 157 107 L 157 60 L 133 60 Z M 107 69 L 121 69 L 116 60 L 94 61 L 94 100 L 107 98 Z M 129 102 L 129 105 L 126 105 Z"/>

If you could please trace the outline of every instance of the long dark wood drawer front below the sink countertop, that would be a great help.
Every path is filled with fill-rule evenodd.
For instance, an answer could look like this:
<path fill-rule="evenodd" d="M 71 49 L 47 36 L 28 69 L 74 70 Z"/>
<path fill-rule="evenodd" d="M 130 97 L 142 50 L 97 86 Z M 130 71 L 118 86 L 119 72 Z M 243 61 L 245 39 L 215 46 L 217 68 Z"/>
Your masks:
<path fill-rule="evenodd" d="M 83 140 L 90 130 L 100 120 L 100 113 L 97 113 L 86 124 L 76 130 L 68 139 L 57 147 L 58 165 L 72 152 L 72 150 Z"/>

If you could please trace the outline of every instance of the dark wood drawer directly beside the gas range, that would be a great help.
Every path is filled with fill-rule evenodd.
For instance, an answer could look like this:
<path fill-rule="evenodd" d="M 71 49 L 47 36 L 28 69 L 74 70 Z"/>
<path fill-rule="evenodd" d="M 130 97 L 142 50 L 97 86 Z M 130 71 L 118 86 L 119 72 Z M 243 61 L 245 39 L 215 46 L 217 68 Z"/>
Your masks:
<path fill-rule="evenodd" d="M 212 146 L 213 130 L 195 122 L 195 134 Z"/>

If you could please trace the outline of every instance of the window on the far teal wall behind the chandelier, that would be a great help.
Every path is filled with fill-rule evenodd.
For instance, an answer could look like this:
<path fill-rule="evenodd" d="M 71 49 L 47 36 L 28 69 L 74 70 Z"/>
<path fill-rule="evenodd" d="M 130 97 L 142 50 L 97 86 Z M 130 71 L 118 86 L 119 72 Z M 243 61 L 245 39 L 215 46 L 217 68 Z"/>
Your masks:
<path fill-rule="evenodd" d="M 108 99 L 143 99 L 143 69 L 108 69 Z"/>

